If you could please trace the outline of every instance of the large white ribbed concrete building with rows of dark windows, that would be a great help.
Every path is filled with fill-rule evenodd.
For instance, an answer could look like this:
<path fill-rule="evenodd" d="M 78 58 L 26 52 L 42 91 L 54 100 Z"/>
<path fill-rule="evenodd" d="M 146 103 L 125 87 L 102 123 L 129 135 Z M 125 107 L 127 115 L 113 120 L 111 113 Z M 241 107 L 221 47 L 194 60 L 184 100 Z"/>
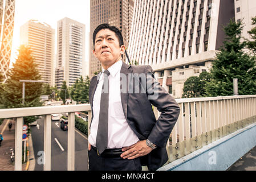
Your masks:
<path fill-rule="evenodd" d="M 180 98 L 186 79 L 211 67 L 224 40 L 222 26 L 234 18 L 234 1 L 135 1 L 130 59 L 152 65 L 160 84 Z"/>

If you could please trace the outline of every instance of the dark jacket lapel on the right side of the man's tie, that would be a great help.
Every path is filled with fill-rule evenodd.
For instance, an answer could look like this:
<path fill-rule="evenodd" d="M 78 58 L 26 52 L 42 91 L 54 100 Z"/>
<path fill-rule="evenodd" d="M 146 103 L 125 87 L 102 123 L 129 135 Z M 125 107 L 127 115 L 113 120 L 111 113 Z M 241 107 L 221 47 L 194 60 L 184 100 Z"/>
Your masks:
<path fill-rule="evenodd" d="M 129 75 L 129 73 L 132 73 L 131 65 L 128 65 L 123 62 L 123 65 L 122 65 L 121 71 L 120 71 L 120 90 L 121 90 L 121 103 L 123 106 L 125 119 L 127 119 L 127 104 L 128 104 L 128 89 L 129 89 L 129 85 L 128 85 L 129 76 L 128 75 Z M 121 78 L 124 78 L 126 80 L 122 81 Z M 123 82 L 123 84 L 122 84 L 122 82 Z M 126 88 L 126 92 L 125 92 L 124 88 Z M 122 92 L 122 90 L 124 90 L 124 91 Z"/>

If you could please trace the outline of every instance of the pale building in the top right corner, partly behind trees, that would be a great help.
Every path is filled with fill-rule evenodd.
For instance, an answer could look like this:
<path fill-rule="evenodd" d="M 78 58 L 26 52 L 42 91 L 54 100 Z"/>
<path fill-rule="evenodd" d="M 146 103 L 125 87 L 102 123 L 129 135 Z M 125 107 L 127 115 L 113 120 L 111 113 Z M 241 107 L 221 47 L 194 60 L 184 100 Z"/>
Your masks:
<path fill-rule="evenodd" d="M 235 20 L 242 21 L 243 30 L 241 36 L 249 39 L 248 31 L 253 28 L 251 18 L 256 16 L 255 0 L 234 0 L 235 2 Z"/>

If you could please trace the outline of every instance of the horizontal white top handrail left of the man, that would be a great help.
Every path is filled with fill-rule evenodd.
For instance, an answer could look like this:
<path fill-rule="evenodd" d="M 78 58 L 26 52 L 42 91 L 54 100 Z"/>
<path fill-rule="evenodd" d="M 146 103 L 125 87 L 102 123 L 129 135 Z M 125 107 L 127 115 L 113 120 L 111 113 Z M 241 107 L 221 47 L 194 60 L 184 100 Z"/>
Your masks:
<path fill-rule="evenodd" d="M 31 115 L 45 115 L 55 113 L 71 113 L 77 111 L 90 111 L 90 104 L 42 106 L 42 107 L 20 107 L 14 109 L 0 109 L 1 118 L 18 118 Z"/>

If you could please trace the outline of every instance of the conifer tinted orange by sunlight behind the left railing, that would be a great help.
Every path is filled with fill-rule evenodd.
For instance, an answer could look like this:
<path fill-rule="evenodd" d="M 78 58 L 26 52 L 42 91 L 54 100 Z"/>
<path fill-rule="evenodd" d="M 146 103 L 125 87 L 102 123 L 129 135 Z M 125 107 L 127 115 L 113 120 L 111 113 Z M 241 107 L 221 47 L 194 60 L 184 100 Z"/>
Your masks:
<path fill-rule="evenodd" d="M 25 102 L 22 104 L 22 82 L 19 80 L 40 80 L 40 75 L 31 49 L 27 46 L 19 47 L 19 54 L 13 68 L 9 71 L 3 92 L 3 105 L 5 108 L 42 106 L 42 82 L 26 82 Z"/>

